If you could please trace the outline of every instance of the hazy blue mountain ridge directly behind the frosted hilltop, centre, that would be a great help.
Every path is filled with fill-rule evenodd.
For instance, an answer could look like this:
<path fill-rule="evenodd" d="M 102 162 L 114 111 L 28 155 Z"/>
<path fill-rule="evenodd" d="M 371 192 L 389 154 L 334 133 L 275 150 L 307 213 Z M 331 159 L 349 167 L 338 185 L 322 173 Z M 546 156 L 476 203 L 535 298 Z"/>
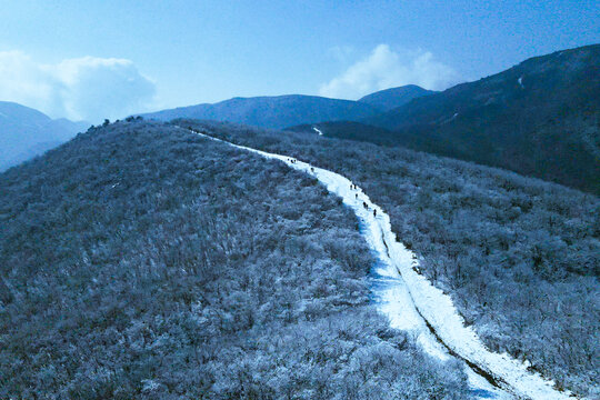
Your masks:
<path fill-rule="evenodd" d="M 142 114 L 169 121 L 174 118 L 230 121 L 280 129 L 301 123 L 372 117 L 381 110 L 367 103 L 316 96 L 233 98 L 214 104 L 198 104 Z"/>

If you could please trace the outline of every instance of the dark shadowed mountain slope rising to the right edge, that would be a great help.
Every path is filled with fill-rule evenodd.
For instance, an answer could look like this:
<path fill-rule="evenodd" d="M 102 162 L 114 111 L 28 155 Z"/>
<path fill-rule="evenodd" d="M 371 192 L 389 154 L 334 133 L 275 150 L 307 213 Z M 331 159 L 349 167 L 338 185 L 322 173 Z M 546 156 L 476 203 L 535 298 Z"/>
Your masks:
<path fill-rule="evenodd" d="M 536 57 L 363 122 L 397 143 L 600 193 L 600 44 Z"/>

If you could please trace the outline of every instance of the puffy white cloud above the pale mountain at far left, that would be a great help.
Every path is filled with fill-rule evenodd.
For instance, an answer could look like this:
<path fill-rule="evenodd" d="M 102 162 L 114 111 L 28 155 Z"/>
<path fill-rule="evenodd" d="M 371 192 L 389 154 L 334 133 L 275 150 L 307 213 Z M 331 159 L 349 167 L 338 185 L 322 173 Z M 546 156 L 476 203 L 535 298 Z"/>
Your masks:
<path fill-rule="evenodd" d="M 147 110 L 154 83 L 124 59 L 83 57 L 41 64 L 20 51 L 0 52 L 0 100 L 50 117 L 98 122 Z"/>

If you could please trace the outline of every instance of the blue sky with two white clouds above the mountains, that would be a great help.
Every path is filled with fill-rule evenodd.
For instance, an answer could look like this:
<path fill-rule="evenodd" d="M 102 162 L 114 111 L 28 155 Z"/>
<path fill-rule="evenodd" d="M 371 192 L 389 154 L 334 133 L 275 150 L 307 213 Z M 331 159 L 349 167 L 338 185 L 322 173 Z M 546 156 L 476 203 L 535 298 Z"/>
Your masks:
<path fill-rule="evenodd" d="M 88 120 L 234 96 L 443 89 L 600 42 L 587 0 L 0 0 L 0 100 Z"/>

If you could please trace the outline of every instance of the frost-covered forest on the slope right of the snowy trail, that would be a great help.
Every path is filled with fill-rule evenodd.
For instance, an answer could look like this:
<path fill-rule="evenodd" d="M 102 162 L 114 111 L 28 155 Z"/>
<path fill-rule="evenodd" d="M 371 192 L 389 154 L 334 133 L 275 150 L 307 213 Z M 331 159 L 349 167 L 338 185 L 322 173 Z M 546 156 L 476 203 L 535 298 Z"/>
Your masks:
<path fill-rule="evenodd" d="M 493 351 L 600 396 L 600 201 L 500 169 L 317 134 L 180 120 L 339 172 L 390 214 Z"/>

